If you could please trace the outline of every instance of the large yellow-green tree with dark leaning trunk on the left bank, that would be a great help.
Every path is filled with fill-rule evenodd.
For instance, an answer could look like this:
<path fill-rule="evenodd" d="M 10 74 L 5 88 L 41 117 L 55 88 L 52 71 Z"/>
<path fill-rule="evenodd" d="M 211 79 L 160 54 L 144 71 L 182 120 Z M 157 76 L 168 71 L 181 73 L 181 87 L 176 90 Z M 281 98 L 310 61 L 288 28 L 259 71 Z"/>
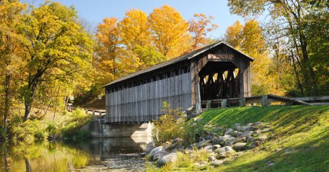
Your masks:
<path fill-rule="evenodd" d="M 56 2 L 46 2 L 39 8 L 32 6 L 31 12 L 25 15 L 24 121 L 29 118 L 36 90 L 43 82 L 72 81 L 75 74 L 90 70 L 93 41 L 76 21 L 73 7 Z"/>

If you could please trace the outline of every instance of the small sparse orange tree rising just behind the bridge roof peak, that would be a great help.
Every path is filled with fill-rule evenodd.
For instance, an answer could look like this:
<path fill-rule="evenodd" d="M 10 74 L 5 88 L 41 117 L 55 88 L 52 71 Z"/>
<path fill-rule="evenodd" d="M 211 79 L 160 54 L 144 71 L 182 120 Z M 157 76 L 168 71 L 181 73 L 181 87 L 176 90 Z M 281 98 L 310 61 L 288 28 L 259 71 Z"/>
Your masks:
<path fill-rule="evenodd" d="M 208 27 L 208 25 L 211 24 L 211 20 L 213 19 L 212 16 L 207 18 L 207 16 L 204 14 L 194 14 L 194 17 L 196 19 L 191 19 L 188 21 L 190 25 L 188 27 L 188 31 L 193 33 L 193 51 L 197 48 L 201 48 L 202 46 L 206 46 L 206 44 L 208 44 L 206 39 L 207 33 L 218 28 L 218 26 L 215 24 L 212 24 L 210 27 Z"/>

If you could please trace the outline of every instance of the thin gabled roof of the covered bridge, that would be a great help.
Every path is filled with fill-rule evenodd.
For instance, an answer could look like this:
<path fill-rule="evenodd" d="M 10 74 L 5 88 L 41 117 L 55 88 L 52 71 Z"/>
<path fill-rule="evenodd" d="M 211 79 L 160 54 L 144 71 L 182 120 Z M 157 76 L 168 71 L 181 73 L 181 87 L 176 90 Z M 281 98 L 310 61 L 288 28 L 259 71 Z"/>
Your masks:
<path fill-rule="evenodd" d="M 121 78 L 118 78 L 117 80 L 114 80 L 111 83 L 108 83 L 107 85 L 104 85 L 103 87 L 107 87 L 109 85 L 113 85 L 115 83 L 120 83 L 121 81 L 125 81 L 125 80 L 130 79 L 130 78 L 134 78 L 134 77 L 137 77 L 137 76 L 141 76 L 143 74 L 147 74 L 147 73 L 152 72 L 154 70 L 158 70 L 160 68 L 163 68 L 165 66 L 169 66 L 169 65 L 174 64 L 174 63 L 178 63 L 180 61 L 184 61 L 184 60 L 187 60 L 187 59 L 192 59 L 193 57 L 196 57 L 197 55 L 199 55 L 201 53 L 204 53 L 205 51 L 208 51 L 209 49 L 211 49 L 215 46 L 218 46 L 219 44 L 225 44 L 226 46 L 229 46 L 230 48 L 234 49 L 235 51 L 238 51 L 239 53 L 241 53 L 245 57 L 249 58 L 250 61 L 254 61 L 254 59 L 252 57 L 249 57 L 245 53 L 242 53 L 241 51 L 236 50 L 236 48 L 233 48 L 232 46 L 230 46 L 226 42 L 216 42 L 215 44 L 210 44 L 210 45 L 205 46 L 203 48 L 199 48 L 196 51 L 192 51 L 191 53 L 186 53 L 185 55 L 181 55 L 180 57 L 175 57 L 173 59 L 170 59 L 168 61 L 164 61 L 162 63 L 158 63 L 158 64 L 156 64 L 154 66 L 151 66 L 149 68 L 146 68 L 144 70 L 139 70 L 139 71 L 134 72 L 132 74 L 128 74 L 127 76 L 123 76 Z"/>

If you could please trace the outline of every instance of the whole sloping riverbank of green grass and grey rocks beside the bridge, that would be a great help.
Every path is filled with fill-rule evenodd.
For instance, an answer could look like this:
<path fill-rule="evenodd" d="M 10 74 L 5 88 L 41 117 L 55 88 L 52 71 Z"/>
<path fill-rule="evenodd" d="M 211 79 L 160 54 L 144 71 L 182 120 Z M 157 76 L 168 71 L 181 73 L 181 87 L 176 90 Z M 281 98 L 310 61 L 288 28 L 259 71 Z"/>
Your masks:
<path fill-rule="evenodd" d="M 158 156 L 156 162 L 149 163 L 148 171 L 327 171 L 328 121 L 329 106 L 212 109 L 193 122 L 203 130 L 196 144 L 184 145 L 182 141 L 178 145 L 180 139 L 172 138 L 160 145 L 162 149 L 157 148 L 162 153 L 156 155 L 154 149 L 147 152 L 150 160 Z M 250 135 L 239 141 L 247 130 Z M 248 137 L 252 138 L 247 141 Z M 256 141 L 260 144 L 252 146 Z M 236 144 L 243 149 L 234 149 Z"/>

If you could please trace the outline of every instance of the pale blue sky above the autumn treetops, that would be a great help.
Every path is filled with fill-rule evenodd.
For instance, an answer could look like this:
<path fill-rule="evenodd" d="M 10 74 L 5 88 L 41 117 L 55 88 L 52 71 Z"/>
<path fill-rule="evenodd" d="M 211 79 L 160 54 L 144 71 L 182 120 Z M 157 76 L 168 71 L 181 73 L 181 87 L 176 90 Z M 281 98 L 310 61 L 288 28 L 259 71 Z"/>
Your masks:
<path fill-rule="evenodd" d="M 236 20 L 243 23 L 243 18 L 230 14 L 225 0 L 56 0 L 63 5 L 74 5 L 80 18 L 86 19 L 93 25 L 98 25 L 105 17 L 116 17 L 121 20 L 125 12 L 132 9 L 140 9 L 147 14 L 154 8 L 162 5 L 170 5 L 175 8 L 185 20 L 193 18 L 195 13 L 203 13 L 206 16 L 213 16 L 218 29 L 208 33 L 211 38 L 220 38 L 226 32 L 226 28 L 232 25 Z M 34 0 L 34 5 L 38 6 L 44 0 Z"/>

